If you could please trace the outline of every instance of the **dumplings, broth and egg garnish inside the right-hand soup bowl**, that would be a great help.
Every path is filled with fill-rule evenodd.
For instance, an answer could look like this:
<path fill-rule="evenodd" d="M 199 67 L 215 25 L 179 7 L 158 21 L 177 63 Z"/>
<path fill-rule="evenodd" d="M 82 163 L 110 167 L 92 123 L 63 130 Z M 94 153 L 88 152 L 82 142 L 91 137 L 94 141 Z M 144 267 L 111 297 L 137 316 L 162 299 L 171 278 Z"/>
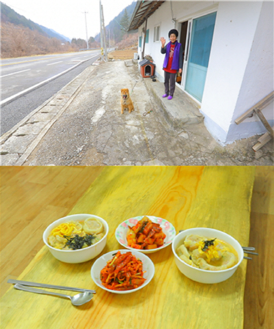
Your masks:
<path fill-rule="evenodd" d="M 177 254 L 188 265 L 208 271 L 226 270 L 238 261 L 237 252 L 228 243 L 193 234 L 186 236 Z"/>

